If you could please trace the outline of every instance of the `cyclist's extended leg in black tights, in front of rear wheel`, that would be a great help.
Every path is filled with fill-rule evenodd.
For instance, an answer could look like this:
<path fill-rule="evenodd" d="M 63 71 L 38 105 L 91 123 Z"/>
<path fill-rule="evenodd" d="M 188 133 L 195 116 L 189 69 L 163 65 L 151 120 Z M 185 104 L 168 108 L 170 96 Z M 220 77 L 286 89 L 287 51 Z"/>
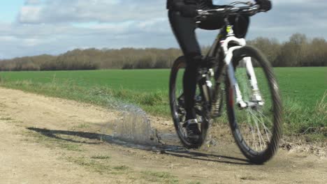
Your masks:
<path fill-rule="evenodd" d="M 187 112 L 186 120 L 196 118 L 194 112 L 197 82 L 197 69 L 201 63 L 201 49 L 196 39 L 196 24 L 193 18 L 182 17 L 180 13 L 169 10 L 169 21 L 175 37 L 187 60 L 183 77 L 185 110 Z"/>

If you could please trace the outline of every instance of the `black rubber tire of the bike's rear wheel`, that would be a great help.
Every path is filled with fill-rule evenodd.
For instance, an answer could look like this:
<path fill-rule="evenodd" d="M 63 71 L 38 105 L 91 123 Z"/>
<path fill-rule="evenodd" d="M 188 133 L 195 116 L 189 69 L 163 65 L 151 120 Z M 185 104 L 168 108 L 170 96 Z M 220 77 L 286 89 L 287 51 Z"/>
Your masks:
<path fill-rule="evenodd" d="M 182 145 L 185 148 L 200 148 L 205 141 L 205 138 L 207 137 L 207 131 L 208 131 L 208 122 L 201 123 L 201 139 L 199 139 L 196 143 L 191 143 L 185 139 L 185 137 L 182 135 L 182 132 L 180 132 L 180 120 L 177 114 L 175 113 L 176 110 L 176 96 L 175 96 L 175 85 L 176 85 L 176 78 L 178 70 L 180 70 L 181 66 L 186 65 L 186 61 L 184 59 L 184 56 L 180 56 L 178 59 L 175 60 L 173 63 L 173 67 L 170 70 L 170 80 L 169 80 L 169 104 L 170 104 L 170 112 L 171 116 L 173 118 L 173 123 L 175 130 L 177 132 L 177 136 L 180 138 L 180 141 Z M 205 121 L 205 120 L 204 120 Z"/>

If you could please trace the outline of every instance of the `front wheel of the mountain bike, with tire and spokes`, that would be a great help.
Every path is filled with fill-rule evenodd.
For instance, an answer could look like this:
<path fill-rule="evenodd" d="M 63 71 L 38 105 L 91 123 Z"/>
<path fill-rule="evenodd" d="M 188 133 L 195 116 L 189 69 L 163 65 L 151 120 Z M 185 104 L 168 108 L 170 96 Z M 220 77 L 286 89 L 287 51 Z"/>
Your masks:
<path fill-rule="evenodd" d="M 249 60 L 251 59 L 251 60 Z M 235 79 L 247 107 L 235 102 L 234 86 L 226 79 L 226 106 L 233 137 L 246 158 L 262 164 L 275 155 L 282 135 L 282 102 L 273 68 L 258 49 L 241 47 L 233 55 Z M 257 84 L 251 80 L 247 63 L 254 66 Z M 253 76 L 253 75 L 252 75 Z M 259 96 L 259 97 L 258 97 Z"/>

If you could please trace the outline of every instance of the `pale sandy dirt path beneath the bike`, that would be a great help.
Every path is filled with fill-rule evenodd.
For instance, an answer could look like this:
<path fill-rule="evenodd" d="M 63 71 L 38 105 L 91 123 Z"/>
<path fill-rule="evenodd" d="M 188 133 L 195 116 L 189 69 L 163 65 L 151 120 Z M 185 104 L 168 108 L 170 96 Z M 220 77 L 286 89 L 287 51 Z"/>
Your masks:
<path fill-rule="evenodd" d="M 206 151 L 131 148 L 111 137 L 120 116 L 0 89 L 0 183 L 327 183 L 326 157 L 281 150 L 252 165 L 223 137 Z M 178 148 L 170 121 L 150 119 Z"/>

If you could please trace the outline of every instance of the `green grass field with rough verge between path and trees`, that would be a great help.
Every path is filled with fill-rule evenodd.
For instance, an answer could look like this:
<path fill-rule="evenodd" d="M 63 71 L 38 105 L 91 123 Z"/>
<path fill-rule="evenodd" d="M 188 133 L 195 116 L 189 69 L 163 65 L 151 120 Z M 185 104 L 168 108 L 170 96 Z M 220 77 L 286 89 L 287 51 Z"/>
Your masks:
<path fill-rule="evenodd" d="M 286 134 L 327 137 L 327 68 L 275 68 Z M 108 98 L 169 116 L 169 70 L 1 72 L 1 86 L 110 107 Z"/>

